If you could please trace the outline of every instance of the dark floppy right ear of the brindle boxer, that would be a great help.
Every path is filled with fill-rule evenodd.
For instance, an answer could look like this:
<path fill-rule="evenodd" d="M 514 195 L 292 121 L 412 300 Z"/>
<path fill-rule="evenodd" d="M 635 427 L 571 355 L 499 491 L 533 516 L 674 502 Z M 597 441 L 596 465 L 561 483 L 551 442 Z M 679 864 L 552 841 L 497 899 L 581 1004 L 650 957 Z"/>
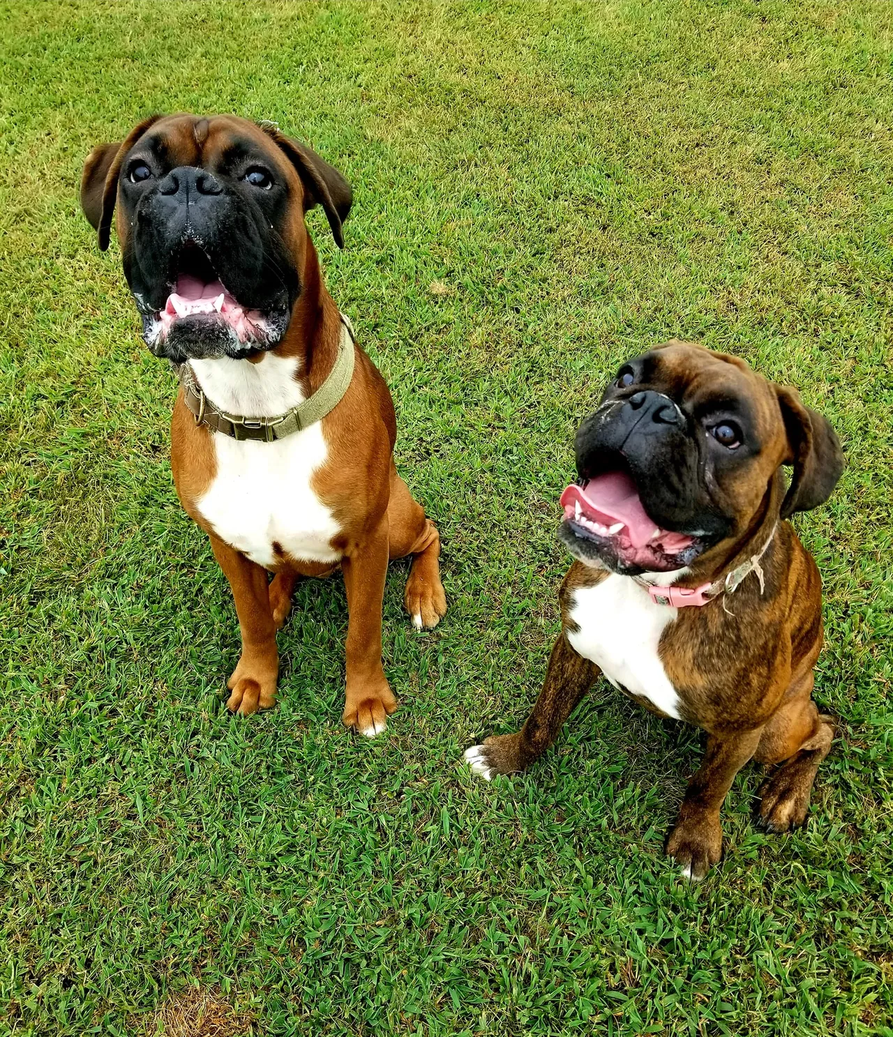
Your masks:
<path fill-rule="evenodd" d="M 804 407 L 800 394 L 788 386 L 776 386 L 790 453 L 786 464 L 793 475 L 781 505 L 781 517 L 794 511 L 810 511 L 824 504 L 843 473 L 846 461 L 831 422 Z"/>

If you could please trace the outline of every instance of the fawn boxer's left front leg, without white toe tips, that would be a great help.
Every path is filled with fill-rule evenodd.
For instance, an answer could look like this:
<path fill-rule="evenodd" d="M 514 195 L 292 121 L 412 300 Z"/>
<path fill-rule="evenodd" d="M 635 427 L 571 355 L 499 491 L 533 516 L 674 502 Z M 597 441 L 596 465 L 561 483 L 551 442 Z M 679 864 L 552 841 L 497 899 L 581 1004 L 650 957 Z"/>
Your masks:
<path fill-rule="evenodd" d="M 247 716 L 257 709 L 269 709 L 276 702 L 279 653 L 267 569 L 214 535 L 211 546 L 232 588 L 242 632 L 242 657 L 226 683 L 232 692 L 226 707 Z"/>

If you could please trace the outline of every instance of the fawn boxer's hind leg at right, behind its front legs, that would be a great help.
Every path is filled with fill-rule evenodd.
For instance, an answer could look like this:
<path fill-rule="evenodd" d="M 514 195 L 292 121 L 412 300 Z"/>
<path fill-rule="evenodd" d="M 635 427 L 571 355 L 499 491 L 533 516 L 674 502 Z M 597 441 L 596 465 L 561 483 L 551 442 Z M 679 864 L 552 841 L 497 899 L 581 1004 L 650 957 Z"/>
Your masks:
<path fill-rule="evenodd" d="M 446 615 L 446 595 L 440 574 L 441 538 L 424 508 L 413 500 L 407 484 L 391 467 L 388 503 L 390 557 L 413 555 L 403 604 L 417 629 L 437 626 Z"/>

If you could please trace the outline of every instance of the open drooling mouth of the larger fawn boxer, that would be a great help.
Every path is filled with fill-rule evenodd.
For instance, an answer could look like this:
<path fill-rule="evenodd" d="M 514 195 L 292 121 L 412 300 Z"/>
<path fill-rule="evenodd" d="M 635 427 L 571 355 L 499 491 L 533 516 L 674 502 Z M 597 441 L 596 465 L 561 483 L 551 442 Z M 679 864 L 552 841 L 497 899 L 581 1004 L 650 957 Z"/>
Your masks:
<path fill-rule="evenodd" d="M 186 245 L 177 257 L 175 278 L 163 308 L 140 309 L 149 348 L 154 353 L 177 354 L 177 360 L 250 356 L 275 345 L 287 326 L 284 308 L 281 312 L 263 312 L 240 303 L 207 256 L 192 244 Z"/>

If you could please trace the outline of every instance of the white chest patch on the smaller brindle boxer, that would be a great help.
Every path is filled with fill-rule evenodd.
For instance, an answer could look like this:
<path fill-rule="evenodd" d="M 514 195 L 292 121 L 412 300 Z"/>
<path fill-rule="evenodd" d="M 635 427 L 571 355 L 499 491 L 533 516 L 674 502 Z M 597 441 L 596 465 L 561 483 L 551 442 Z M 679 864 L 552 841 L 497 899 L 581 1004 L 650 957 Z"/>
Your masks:
<path fill-rule="evenodd" d="M 615 573 L 594 587 L 581 587 L 567 633 L 574 650 L 599 666 L 608 679 L 648 699 L 668 717 L 679 719 L 679 697 L 658 655 L 661 635 L 677 614 L 657 605 L 644 587 Z"/>

